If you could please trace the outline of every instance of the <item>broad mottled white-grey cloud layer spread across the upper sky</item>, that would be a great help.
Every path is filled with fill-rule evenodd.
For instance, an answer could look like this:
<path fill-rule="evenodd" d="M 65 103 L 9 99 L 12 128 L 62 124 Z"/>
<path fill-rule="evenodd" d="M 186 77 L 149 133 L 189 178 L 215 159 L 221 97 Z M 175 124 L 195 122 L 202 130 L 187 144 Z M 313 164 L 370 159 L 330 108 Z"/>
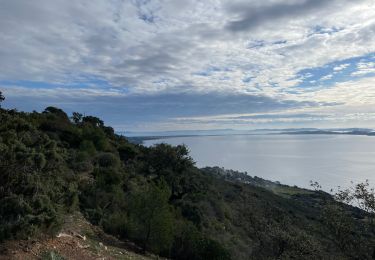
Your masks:
<path fill-rule="evenodd" d="M 244 9 L 228 14 L 232 2 L 2 1 L 0 76 L 69 81 L 90 74 L 134 91 L 180 85 L 241 91 L 246 86 L 240 79 L 249 71 L 254 76 L 250 85 L 288 87 L 298 83 L 288 79 L 301 69 L 375 51 L 372 1 L 319 1 L 311 7 L 313 1 L 308 2 L 303 9 L 295 1 L 266 1 L 258 7 L 265 17 L 275 11 L 272 6 L 298 12 L 280 16 L 282 23 L 258 17 L 253 31 L 235 36 L 224 28 Z M 246 6 L 258 4 L 247 1 Z M 314 32 L 316 26 L 344 29 L 321 33 Z M 265 45 L 246 49 L 249 37 Z M 281 40 L 285 43 L 272 44 Z M 191 76 L 210 66 L 230 68 L 221 73 L 230 81 Z M 153 83 L 161 77 L 169 83 L 159 89 Z"/>

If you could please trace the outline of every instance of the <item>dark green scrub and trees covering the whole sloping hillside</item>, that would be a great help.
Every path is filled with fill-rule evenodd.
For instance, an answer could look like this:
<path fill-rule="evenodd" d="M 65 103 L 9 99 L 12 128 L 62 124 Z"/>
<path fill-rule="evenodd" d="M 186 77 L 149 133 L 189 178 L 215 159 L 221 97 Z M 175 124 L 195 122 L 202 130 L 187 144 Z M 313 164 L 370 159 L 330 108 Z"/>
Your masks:
<path fill-rule="evenodd" d="M 0 122 L 0 240 L 54 234 L 81 211 L 174 259 L 373 257 L 372 213 L 324 192 L 198 169 L 185 146 L 132 144 L 96 117 L 54 107 L 0 109 Z"/>

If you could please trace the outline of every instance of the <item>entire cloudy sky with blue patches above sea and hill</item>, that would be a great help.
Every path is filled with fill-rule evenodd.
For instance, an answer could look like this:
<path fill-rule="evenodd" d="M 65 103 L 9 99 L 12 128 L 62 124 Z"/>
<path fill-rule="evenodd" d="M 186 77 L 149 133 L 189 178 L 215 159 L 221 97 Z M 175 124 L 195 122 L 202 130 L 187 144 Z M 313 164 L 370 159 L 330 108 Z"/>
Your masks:
<path fill-rule="evenodd" d="M 0 0 L 0 91 L 117 131 L 375 128 L 375 1 Z"/>

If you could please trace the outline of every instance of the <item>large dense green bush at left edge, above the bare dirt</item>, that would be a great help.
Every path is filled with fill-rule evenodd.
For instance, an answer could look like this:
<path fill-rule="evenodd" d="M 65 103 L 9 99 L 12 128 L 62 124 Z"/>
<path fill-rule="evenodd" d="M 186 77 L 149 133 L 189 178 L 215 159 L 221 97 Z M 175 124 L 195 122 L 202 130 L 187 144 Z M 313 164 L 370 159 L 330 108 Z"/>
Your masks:
<path fill-rule="evenodd" d="M 0 239 L 53 232 L 77 203 L 67 151 L 21 114 L 0 119 Z"/>

